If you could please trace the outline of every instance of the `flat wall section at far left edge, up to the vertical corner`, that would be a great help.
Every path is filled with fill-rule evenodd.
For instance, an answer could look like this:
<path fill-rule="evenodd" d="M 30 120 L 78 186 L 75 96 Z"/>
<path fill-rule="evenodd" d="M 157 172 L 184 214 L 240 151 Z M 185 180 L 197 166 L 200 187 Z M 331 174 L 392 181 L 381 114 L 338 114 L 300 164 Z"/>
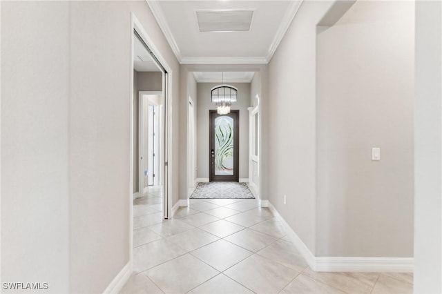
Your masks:
<path fill-rule="evenodd" d="M 69 290 L 68 19 L 68 2 L 1 2 L 1 282 L 42 293 Z"/>

